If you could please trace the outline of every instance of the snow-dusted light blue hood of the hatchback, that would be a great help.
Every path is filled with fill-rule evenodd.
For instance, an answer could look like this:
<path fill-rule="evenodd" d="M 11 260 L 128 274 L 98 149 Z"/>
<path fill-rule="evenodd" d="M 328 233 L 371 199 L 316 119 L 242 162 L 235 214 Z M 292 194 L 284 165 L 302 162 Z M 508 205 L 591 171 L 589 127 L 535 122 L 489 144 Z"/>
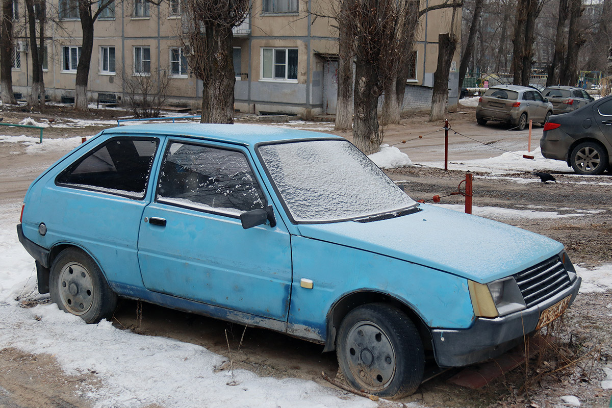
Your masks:
<path fill-rule="evenodd" d="M 389 220 L 300 224 L 302 236 L 488 283 L 558 254 L 561 243 L 521 228 L 420 204 Z"/>

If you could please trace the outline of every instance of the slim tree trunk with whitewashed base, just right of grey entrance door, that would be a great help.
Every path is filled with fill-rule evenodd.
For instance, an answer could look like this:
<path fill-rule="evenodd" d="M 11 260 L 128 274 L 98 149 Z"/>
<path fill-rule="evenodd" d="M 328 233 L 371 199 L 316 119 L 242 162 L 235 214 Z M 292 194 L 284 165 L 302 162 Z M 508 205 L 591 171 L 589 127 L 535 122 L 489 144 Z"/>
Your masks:
<path fill-rule="evenodd" d="M 336 101 L 336 122 L 334 130 L 349 130 L 353 127 L 353 34 L 348 23 L 348 1 L 343 1 L 338 16 L 338 92 Z"/>

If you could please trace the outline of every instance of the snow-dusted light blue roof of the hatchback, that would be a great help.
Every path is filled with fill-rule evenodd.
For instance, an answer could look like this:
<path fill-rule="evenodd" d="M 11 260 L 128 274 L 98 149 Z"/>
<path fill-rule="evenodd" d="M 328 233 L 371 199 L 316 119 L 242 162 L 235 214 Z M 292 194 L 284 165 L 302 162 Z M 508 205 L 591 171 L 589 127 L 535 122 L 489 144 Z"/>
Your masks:
<path fill-rule="evenodd" d="M 244 146 L 253 146 L 257 143 L 275 141 L 317 138 L 338 138 L 340 136 L 327 133 L 281 128 L 265 125 L 226 125 L 226 124 L 200 124 L 200 123 L 174 123 L 174 124 L 146 124 L 129 125 L 106 129 L 105 135 L 137 134 L 139 136 L 168 135 L 181 136 L 194 139 L 207 139 L 223 141 Z"/>

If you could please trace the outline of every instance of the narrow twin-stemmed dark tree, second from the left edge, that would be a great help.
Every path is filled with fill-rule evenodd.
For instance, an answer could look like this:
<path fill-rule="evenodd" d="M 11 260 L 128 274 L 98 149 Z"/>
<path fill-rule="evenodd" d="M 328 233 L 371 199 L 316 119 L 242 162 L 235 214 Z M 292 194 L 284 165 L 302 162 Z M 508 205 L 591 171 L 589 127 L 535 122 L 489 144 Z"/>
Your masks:
<path fill-rule="evenodd" d="M 30 105 L 45 105 L 45 81 L 42 75 L 43 51 L 45 44 L 45 14 L 46 2 L 39 0 L 38 7 L 34 7 L 34 0 L 26 0 L 26 12 L 28 15 L 28 32 L 30 50 L 32 53 L 32 92 L 30 93 Z M 39 35 L 36 35 L 36 20 L 39 21 Z M 36 40 L 39 40 L 40 46 Z"/>

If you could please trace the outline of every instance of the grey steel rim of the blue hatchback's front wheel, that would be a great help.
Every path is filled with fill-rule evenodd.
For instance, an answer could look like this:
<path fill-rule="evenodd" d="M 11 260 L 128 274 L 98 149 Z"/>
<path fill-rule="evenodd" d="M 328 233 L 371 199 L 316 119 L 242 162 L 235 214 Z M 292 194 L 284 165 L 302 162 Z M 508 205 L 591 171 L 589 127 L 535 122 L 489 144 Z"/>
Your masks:
<path fill-rule="evenodd" d="M 358 322 L 346 336 L 346 360 L 354 379 L 372 390 L 386 388 L 395 377 L 395 349 L 373 322 Z"/>

